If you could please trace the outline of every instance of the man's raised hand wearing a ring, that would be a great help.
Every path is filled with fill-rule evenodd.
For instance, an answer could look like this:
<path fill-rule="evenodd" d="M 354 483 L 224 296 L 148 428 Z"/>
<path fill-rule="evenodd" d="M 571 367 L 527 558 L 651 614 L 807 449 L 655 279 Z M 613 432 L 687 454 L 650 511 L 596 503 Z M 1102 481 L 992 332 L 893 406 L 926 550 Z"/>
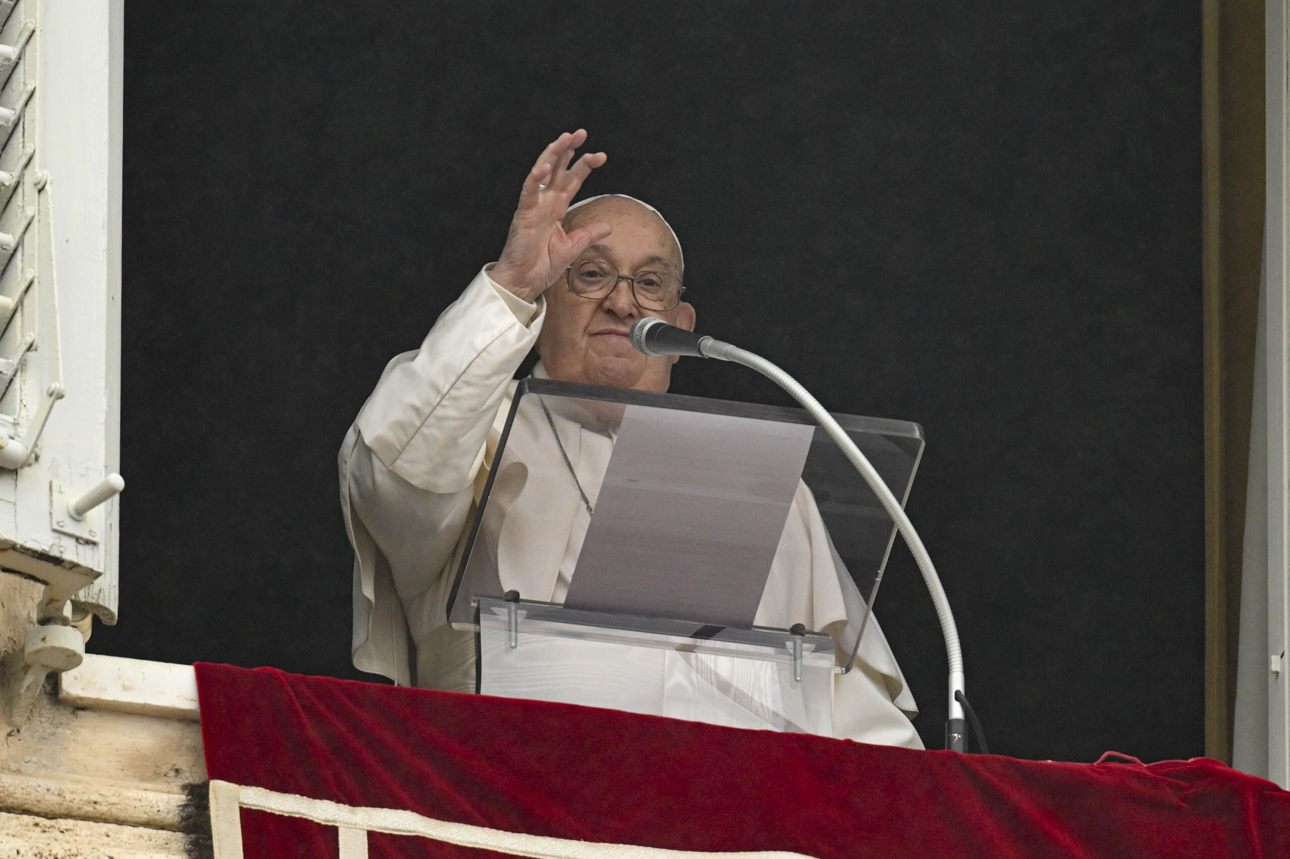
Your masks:
<path fill-rule="evenodd" d="M 590 152 L 569 166 L 574 150 L 586 139 L 583 129 L 573 134 L 565 132 L 538 157 L 524 181 L 506 248 L 489 272 L 499 286 L 526 302 L 537 301 L 587 245 L 613 230 L 608 223 L 596 222 L 566 233 L 560 226 L 583 181 L 608 160 L 604 152 Z"/>

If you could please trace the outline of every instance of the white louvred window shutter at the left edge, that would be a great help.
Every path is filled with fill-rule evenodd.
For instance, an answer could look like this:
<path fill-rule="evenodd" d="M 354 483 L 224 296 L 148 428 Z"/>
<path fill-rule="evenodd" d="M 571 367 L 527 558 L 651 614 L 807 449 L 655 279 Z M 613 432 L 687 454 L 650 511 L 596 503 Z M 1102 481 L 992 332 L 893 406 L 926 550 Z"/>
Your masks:
<path fill-rule="evenodd" d="M 0 566 L 115 623 L 124 0 L 4 15 Z"/>

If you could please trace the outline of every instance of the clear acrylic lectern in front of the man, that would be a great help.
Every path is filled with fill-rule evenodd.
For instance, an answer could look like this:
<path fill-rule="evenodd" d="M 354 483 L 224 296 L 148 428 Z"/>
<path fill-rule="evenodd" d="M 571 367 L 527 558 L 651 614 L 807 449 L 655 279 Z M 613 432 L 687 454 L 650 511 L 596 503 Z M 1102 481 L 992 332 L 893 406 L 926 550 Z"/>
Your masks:
<path fill-rule="evenodd" d="M 903 503 L 921 428 L 835 417 Z M 551 509 L 561 498 L 569 509 Z M 855 584 L 842 641 L 755 623 L 780 540 L 811 506 L 828 533 L 817 542 Z M 529 551 L 548 537 L 555 551 Z M 477 635 L 484 694 L 831 735 L 833 673 L 850 667 L 894 537 L 802 410 L 530 378 L 448 619 Z"/>

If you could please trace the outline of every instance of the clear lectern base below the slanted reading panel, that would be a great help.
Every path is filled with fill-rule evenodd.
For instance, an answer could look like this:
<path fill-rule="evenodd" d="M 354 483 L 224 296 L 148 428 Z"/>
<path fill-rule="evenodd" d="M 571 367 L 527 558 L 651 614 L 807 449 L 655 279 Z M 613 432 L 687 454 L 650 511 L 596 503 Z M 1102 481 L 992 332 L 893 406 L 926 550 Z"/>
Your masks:
<path fill-rule="evenodd" d="M 479 666 L 486 695 L 833 735 L 832 640 L 815 633 L 722 629 L 485 598 Z"/>

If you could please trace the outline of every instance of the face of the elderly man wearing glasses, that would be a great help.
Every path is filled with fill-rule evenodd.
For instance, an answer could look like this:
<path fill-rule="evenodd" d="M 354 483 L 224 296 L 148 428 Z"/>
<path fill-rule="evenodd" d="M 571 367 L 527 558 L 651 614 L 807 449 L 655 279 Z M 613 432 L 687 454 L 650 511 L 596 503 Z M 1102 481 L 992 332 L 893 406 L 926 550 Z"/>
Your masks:
<path fill-rule="evenodd" d="M 596 200 L 575 209 L 565 230 L 604 222 L 614 228 L 583 252 L 583 259 L 608 262 L 620 275 L 663 271 L 680 277 L 680 253 L 663 221 L 637 202 L 618 197 Z M 538 335 L 538 355 L 552 379 L 605 384 L 639 391 L 667 391 L 676 356 L 649 357 L 628 339 L 632 324 L 657 316 L 694 330 L 694 308 L 681 302 L 670 311 L 640 307 L 631 284 L 618 281 L 605 298 L 582 298 L 571 291 L 565 272 L 547 291 L 547 319 Z"/>

